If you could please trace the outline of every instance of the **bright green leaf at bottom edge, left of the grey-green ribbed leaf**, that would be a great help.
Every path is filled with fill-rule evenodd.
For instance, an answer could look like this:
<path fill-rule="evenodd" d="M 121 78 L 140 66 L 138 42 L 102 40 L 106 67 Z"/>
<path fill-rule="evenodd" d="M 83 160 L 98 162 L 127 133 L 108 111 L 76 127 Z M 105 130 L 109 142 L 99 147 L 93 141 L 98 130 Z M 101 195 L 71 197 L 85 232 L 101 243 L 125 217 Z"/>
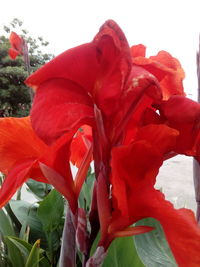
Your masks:
<path fill-rule="evenodd" d="M 103 267 L 144 267 L 134 246 L 133 237 L 115 239 L 104 260 Z"/>

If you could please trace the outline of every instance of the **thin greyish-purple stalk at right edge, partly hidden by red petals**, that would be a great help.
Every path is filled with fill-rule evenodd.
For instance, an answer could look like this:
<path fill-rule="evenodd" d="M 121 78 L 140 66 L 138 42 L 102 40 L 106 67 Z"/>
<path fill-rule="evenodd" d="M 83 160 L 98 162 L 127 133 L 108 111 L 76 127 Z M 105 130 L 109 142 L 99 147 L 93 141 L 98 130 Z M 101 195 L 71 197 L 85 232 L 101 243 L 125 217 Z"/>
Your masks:
<path fill-rule="evenodd" d="M 199 41 L 199 51 L 197 52 L 197 78 L 198 78 L 197 100 L 200 103 L 200 41 Z M 195 198 L 197 203 L 196 218 L 197 222 L 200 223 L 200 165 L 196 159 L 193 160 L 193 179 L 194 179 Z"/>

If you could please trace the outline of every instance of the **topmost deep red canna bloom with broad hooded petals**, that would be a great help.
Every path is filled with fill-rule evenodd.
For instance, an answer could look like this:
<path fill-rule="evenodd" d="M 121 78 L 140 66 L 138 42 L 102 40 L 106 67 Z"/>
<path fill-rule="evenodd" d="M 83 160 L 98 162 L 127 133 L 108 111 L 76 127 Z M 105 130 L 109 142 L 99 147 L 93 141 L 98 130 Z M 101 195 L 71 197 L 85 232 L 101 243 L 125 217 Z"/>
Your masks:
<path fill-rule="evenodd" d="M 123 128 L 122 121 L 128 120 L 140 98 L 148 95 L 149 105 L 162 99 L 156 78 L 132 67 L 126 38 L 113 21 L 106 22 L 91 43 L 56 57 L 26 84 L 36 90 L 32 124 L 46 143 L 83 124 L 100 127 L 94 107 L 113 141 L 116 128 Z"/>

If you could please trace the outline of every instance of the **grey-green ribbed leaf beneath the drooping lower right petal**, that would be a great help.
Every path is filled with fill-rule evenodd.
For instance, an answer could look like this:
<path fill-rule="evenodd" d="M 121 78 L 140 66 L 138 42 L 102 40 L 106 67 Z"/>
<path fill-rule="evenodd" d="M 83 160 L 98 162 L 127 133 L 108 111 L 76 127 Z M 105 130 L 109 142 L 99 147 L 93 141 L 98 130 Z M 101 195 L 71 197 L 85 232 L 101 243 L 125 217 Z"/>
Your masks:
<path fill-rule="evenodd" d="M 153 218 L 145 218 L 136 225 L 148 225 L 155 230 L 136 235 L 135 246 L 142 262 L 148 267 L 177 267 L 161 224 Z"/>

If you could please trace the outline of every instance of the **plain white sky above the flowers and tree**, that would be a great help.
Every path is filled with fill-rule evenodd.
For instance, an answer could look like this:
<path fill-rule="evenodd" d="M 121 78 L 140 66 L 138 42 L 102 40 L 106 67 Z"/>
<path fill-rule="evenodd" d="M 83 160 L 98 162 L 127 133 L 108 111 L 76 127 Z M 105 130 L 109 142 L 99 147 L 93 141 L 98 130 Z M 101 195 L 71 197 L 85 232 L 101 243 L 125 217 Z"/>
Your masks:
<path fill-rule="evenodd" d="M 48 52 L 55 55 L 91 41 L 105 20 L 114 19 L 130 45 L 143 43 L 148 55 L 166 50 L 177 57 L 185 90 L 195 96 L 200 0 L 6 0 L 0 8 L 0 34 L 17 17 L 31 35 L 50 41 Z"/>

